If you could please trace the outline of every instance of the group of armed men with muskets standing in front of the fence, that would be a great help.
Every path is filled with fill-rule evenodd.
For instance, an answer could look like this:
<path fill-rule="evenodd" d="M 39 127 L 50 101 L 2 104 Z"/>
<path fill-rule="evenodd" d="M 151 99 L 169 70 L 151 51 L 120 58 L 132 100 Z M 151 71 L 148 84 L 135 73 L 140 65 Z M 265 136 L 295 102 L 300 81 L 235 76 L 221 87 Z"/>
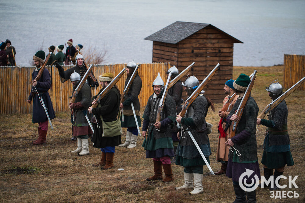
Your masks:
<path fill-rule="evenodd" d="M 33 57 L 36 66 L 32 74 L 33 79 L 41 68 L 44 58 L 45 53 L 43 51 L 38 51 Z M 59 62 L 55 62 L 63 82 L 70 79 L 73 90 L 87 71 L 81 54 L 77 54 L 75 60 L 76 66 L 66 71 L 63 70 Z M 127 64 L 125 87 L 135 68 L 134 61 Z M 179 74 L 179 71 L 173 66 L 167 72 L 167 74 L 170 73 L 172 77 L 175 77 Z M 116 85 L 108 89 L 106 95 L 99 99 L 100 93 L 107 89 L 115 78 L 113 73 L 104 73 L 98 78 L 99 84 L 89 76 L 88 84 L 84 83 L 75 102 L 69 103 L 73 136 L 77 138 L 77 149 L 72 153 L 78 155 L 89 154 L 88 136 L 93 134 L 91 139 L 94 143 L 93 146 L 99 148 L 102 152 L 99 163 L 93 164 L 93 166 L 101 167 L 102 170 L 113 168 L 115 146 L 132 149 L 136 146 L 138 135 L 141 134 L 138 131 L 137 124 L 141 127 L 138 95 L 142 88 L 142 80 L 138 72 L 135 72 L 135 74 L 136 76 L 124 101 Z M 257 119 L 259 109 L 251 96 L 246 102 L 242 116 L 238 117 L 235 114 L 249 83 L 250 78 L 245 74 L 240 74 L 236 80 L 231 79 L 225 82 L 224 92 L 227 96 L 223 101 L 223 107 L 218 111 L 220 122 L 218 126 L 217 161 L 221 162 L 221 170 L 215 174 L 225 173 L 226 176 L 232 178 L 236 202 L 256 202 L 255 190 L 252 192 L 242 190 L 238 181 L 246 169 L 253 170 L 253 176 L 257 175 L 260 179 L 256 141 L 257 124 L 267 126 L 264 154 L 261 161 L 264 164 L 265 178 L 268 179 L 272 175 L 273 168 L 275 168 L 274 176 L 277 177 L 283 174 L 285 165 L 291 166 L 294 164 L 287 132 L 288 111 L 285 101 L 271 110 L 268 120 Z M 31 92 L 33 94 L 30 94 L 28 102 L 30 103 L 34 99 L 33 122 L 39 124 L 39 138 L 33 141 L 33 144 L 43 144 L 46 142 L 48 119 L 43 116 L 45 115 L 44 112 L 41 113 L 44 109 L 39 103 L 39 98 L 45 101 L 50 119 L 55 117 L 48 95 L 48 89 L 51 85 L 49 72 L 45 69 L 42 77 L 38 81 L 33 80 L 32 85 Z M 96 87 L 99 85 L 101 85 L 100 92 L 91 98 L 90 86 Z M 203 166 L 210 164 L 211 148 L 205 117 L 211 101 L 204 95 L 204 91 L 201 91 L 189 105 L 185 116 L 181 117 L 178 114 L 183 102 L 181 100 L 182 91 L 186 91 L 187 95 L 190 96 L 198 86 L 199 80 L 195 76 L 187 77 L 185 82 L 178 81 L 172 86 L 165 98 L 160 121 L 156 122 L 158 106 L 165 90 L 165 84 L 160 74 L 158 74 L 152 83 L 153 93 L 147 101 L 142 116 L 142 136 L 144 137 L 142 147 L 146 150 L 146 158 L 152 158 L 154 167 L 154 174 L 146 180 L 162 180 L 163 182 L 174 180 L 171 168 L 174 160 L 176 165 L 184 167 L 184 184 L 175 189 L 192 190 L 189 193 L 192 195 L 203 192 Z M 266 90 L 273 100 L 282 94 L 282 86 L 279 83 L 272 83 Z M 93 107 L 94 105 L 96 107 Z M 123 110 L 122 113 L 120 109 Z M 91 122 L 88 122 L 85 118 L 86 115 L 87 118 L 90 117 Z M 239 121 L 239 123 L 236 127 L 235 136 L 230 138 L 232 121 Z M 91 123 L 94 131 L 90 128 Z M 127 128 L 126 141 L 123 144 L 121 144 L 121 127 Z M 193 136 L 199 148 L 196 147 L 190 135 Z M 281 138 L 280 141 L 278 141 L 278 136 Z M 199 149 L 201 152 L 199 152 Z M 203 154 L 206 162 L 200 153 Z M 171 160 L 171 157 L 175 157 L 175 159 Z M 270 190 L 274 189 L 277 188 L 270 188 Z"/>

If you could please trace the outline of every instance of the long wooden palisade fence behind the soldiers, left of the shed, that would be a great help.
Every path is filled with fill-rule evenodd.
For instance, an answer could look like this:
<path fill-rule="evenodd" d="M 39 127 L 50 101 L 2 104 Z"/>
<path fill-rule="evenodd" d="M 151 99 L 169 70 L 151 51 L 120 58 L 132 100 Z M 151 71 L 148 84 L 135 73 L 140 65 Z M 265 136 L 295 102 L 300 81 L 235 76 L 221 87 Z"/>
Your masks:
<path fill-rule="evenodd" d="M 94 65 L 93 73 L 98 79 L 99 75 L 105 72 L 112 72 L 117 75 L 127 64 L 114 64 L 114 65 Z M 64 70 L 73 66 L 63 66 Z M 64 83 L 60 82 L 60 76 L 57 68 L 52 67 L 52 88 L 48 91 L 53 108 L 55 112 L 69 111 L 69 97 L 72 95 L 72 85 L 70 80 Z M 167 63 L 151 63 L 141 64 L 139 68 L 139 75 L 142 79 L 142 90 L 139 95 L 140 106 L 145 107 L 148 97 L 153 93 L 152 82 L 156 78 L 158 72 L 161 77 L 166 81 L 166 71 L 169 68 Z M 47 67 L 50 72 L 50 66 Z M 0 114 L 29 114 L 32 112 L 33 105 L 27 103 L 30 94 L 32 72 L 34 67 L 0 67 Z M 117 83 L 121 92 L 124 89 L 124 83 L 127 74 L 120 79 Z M 92 96 L 95 96 L 101 86 L 97 89 L 92 89 Z"/>

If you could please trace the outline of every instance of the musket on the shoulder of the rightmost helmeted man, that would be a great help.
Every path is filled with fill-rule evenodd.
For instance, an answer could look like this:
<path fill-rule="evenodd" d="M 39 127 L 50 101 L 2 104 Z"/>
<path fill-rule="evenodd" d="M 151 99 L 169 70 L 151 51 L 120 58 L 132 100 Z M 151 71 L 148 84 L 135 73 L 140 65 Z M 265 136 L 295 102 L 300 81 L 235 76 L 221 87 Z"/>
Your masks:
<path fill-rule="evenodd" d="M 258 115 L 257 118 L 263 119 L 266 114 L 273 109 L 274 107 L 276 107 L 279 103 L 281 103 L 287 96 L 289 96 L 291 93 L 293 93 L 296 89 L 298 89 L 302 83 L 305 81 L 305 77 L 303 77 L 302 79 L 299 80 L 299 82 L 297 82 L 296 84 L 294 84 L 292 87 L 290 87 L 289 89 L 287 89 L 283 94 L 281 94 L 281 96 L 279 96 L 278 98 L 276 98 L 274 101 L 272 101 L 270 104 L 268 104 L 262 113 L 260 113 L 260 115 Z"/>

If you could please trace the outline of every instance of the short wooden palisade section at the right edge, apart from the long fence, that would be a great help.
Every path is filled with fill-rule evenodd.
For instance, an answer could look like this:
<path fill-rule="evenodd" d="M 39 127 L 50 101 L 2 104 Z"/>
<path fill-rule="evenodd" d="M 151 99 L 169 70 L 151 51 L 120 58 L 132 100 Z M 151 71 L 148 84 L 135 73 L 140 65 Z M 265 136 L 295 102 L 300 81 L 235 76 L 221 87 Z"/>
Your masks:
<path fill-rule="evenodd" d="M 305 76 L 305 56 L 284 54 L 284 88 L 288 89 Z M 303 83 L 299 90 L 305 90 Z"/>

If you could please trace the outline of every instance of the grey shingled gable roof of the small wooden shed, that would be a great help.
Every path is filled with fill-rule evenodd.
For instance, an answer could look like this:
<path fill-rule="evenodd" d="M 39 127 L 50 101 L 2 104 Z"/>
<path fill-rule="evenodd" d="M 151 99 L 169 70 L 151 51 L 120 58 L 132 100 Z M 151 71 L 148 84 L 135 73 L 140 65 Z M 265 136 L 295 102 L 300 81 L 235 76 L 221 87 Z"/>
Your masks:
<path fill-rule="evenodd" d="M 181 22 L 181 21 L 176 21 L 175 23 L 172 23 L 169 26 L 164 27 L 163 29 L 153 33 L 152 35 L 145 37 L 144 40 L 177 44 L 181 40 L 184 40 L 186 37 L 191 36 L 192 34 L 196 33 L 197 31 L 209 25 L 221 31 L 222 33 L 228 35 L 231 39 L 233 39 L 234 43 L 243 43 L 242 41 L 232 37 L 231 35 L 225 33 L 224 31 L 218 29 L 217 27 L 211 24 L 190 23 L 190 22 Z"/>

